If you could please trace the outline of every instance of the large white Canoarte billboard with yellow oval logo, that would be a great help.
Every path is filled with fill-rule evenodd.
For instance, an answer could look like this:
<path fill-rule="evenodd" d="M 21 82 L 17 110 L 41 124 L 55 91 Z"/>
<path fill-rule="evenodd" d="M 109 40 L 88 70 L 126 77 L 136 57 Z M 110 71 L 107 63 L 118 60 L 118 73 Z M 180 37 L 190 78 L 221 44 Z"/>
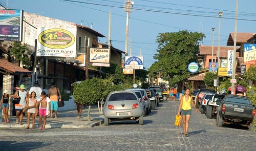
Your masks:
<path fill-rule="evenodd" d="M 76 29 L 38 28 L 37 56 L 76 57 Z"/>

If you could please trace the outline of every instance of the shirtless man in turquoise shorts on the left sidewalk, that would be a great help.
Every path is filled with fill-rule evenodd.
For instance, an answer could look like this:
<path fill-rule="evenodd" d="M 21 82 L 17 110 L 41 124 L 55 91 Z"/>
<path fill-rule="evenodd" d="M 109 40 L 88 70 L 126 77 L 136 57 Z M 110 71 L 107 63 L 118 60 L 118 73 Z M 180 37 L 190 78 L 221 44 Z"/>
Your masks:
<path fill-rule="evenodd" d="M 61 101 L 61 94 L 58 88 L 55 87 L 55 83 L 51 83 L 51 88 L 49 89 L 48 97 L 51 100 L 51 118 L 53 114 L 53 110 L 55 111 L 55 118 L 57 118 L 58 111 L 58 98 Z"/>

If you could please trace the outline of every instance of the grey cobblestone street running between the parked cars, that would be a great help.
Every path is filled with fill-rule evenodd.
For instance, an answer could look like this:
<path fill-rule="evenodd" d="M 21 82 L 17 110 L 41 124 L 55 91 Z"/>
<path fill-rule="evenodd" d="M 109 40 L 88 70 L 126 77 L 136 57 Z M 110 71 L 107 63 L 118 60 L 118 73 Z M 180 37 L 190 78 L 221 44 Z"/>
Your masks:
<path fill-rule="evenodd" d="M 51 128 L 46 131 L 2 128 L 0 150 L 254 150 L 256 132 L 244 127 L 218 127 L 215 118 L 193 110 L 189 135 L 174 125 L 179 101 L 164 101 L 135 121 L 92 128 Z"/>

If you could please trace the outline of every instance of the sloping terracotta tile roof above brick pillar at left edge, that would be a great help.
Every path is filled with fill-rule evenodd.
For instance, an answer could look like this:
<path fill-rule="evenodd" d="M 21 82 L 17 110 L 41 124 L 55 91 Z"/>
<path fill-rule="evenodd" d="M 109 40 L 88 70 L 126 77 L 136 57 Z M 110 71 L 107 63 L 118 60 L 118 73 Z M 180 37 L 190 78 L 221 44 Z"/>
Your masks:
<path fill-rule="evenodd" d="M 3 72 L 9 72 L 11 74 L 32 74 L 32 71 L 29 71 L 27 69 L 18 67 L 17 65 L 8 62 L 5 59 L 0 59 L 0 71 Z"/>

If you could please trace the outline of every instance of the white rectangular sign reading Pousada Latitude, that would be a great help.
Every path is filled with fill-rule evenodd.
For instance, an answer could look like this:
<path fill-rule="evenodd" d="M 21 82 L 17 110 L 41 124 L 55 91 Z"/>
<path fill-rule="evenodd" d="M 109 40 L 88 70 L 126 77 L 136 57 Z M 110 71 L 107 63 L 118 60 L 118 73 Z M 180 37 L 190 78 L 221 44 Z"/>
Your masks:
<path fill-rule="evenodd" d="M 91 48 L 90 62 L 109 63 L 110 49 Z"/>

